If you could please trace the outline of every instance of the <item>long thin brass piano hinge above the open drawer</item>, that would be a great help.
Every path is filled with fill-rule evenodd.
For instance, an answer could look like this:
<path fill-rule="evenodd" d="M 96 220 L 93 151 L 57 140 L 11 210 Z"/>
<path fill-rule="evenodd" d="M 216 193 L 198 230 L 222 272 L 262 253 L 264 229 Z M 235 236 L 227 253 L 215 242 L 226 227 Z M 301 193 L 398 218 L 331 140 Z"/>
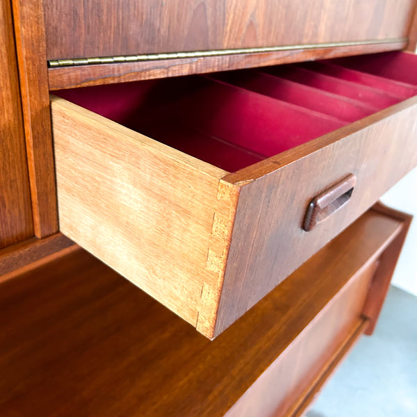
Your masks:
<path fill-rule="evenodd" d="M 384 44 L 408 42 L 408 38 L 375 39 L 375 40 L 354 40 L 350 42 L 330 42 L 322 44 L 301 44 L 286 45 L 281 47 L 258 47 L 240 49 L 217 49 L 212 51 L 190 51 L 190 52 L 168 52 L 166 54 L 144 54 L 144 55 L 125 55 L 125 56 L 101 56 L 94 58 L 74 58 L 49 60 L 48 65 L 54 67 L 74 67 L 78 65 L 98 65 L 116 63 L 136 63 L 148 60 L 167 60 L 178 58 L 204 58 L 208 56 L 225 56 L 238 54 L 263 54 L 265 52 L 293 51 L 297 49 L 319 49 L 334 47 L 354 47 L 368 44 Z"/>

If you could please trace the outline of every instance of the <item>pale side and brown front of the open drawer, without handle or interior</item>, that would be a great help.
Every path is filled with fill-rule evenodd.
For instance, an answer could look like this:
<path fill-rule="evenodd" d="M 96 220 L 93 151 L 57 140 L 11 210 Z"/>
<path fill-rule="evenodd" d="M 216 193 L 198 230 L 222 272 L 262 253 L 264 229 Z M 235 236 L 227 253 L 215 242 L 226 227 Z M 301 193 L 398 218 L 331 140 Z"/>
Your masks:
<path fill-rule="evenodd" d="M 65 99 L 51 109 L 63 234 L 209 338 L 417 165 L 417 97 L 234 173 Z M 347 174 L 349 201 L 304 231 Z"/>

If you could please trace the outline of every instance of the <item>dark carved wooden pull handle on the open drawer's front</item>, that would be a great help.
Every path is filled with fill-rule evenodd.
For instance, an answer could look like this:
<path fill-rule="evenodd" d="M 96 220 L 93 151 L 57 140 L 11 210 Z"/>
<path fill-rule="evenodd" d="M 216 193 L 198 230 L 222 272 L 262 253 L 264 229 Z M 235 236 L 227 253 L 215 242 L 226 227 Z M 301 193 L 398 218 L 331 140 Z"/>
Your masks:
<path fill-rule="evenodd" d="M 306 211 L 303 229 L 310 231 L 323 220 L 343 207 L 350 199 L 353 193 L 356 177 L 349 174 L 333 186 L 327 188 L 319 195 L 314 197 Z"/>

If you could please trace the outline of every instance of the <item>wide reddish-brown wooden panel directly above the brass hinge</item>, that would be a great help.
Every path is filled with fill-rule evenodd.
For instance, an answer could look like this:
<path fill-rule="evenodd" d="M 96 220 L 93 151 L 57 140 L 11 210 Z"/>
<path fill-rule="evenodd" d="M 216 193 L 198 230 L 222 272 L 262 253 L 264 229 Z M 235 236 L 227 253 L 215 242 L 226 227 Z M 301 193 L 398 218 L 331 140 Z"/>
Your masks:
<path fill-rule="evenodd" d="M 48 59 L 406 38 L 416 4 L 415 0 L 43 3 Z"/>

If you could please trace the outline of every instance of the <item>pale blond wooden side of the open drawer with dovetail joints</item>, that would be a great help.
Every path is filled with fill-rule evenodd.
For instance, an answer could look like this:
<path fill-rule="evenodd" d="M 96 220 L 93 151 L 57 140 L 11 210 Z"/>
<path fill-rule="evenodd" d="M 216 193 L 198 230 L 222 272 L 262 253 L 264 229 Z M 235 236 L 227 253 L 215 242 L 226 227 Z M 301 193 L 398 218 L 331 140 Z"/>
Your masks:
<path fill-rule="evenodd" d="M 60 230 L 210 336 L 237 198 L 226 172 L 64 99 L 51 111 Z"/>

